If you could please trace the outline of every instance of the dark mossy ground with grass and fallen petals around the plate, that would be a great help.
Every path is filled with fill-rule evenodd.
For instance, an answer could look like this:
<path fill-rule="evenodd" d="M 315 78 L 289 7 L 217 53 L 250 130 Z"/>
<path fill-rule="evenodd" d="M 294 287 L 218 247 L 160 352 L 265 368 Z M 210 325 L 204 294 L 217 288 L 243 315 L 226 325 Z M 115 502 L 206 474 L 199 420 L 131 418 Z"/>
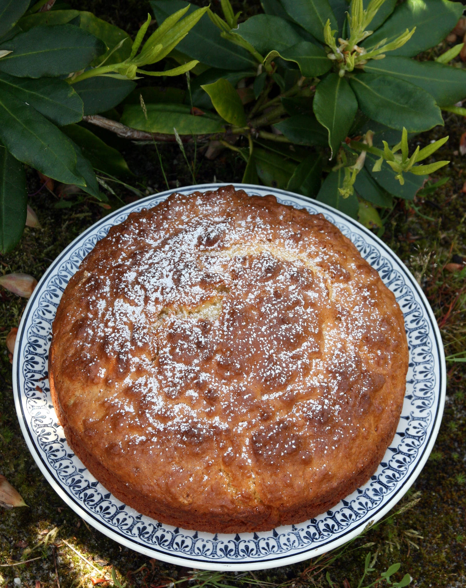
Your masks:
<path fill-rule="evenodd" d="M 115 2 L 112 14 L 108 3 L 89 0 L 85 6 L 98 16 L 106 18 L 134 33 L 147 14 L 142 1 Z M 238 9 L 244 2 L 237 2 Z M 245 6 L 251 10 L 250 2 Z M 252 9 L 254 9 L 252 6 Z M 447 355 L 460 351 L 466 345 L 466 282 L 460 273 L 450 273 L 445 265 L 454 256 L 466 256 L 466 196 L 462 186 L 466 181 L 465 159 L 457 149 L 461 133 L 466 131 L 464 119 L 448 116 L 445 129 L 434 129 L 415 139 L 421 146 L 432 139 L 450 135 L 450 141 L 436 154 L 436 159 L 450 159 L 447 168 L 435 179 L 448 176 L 450 181 L 432 195 L 418 197 L 414 208 L 408 202 L 398 202 L 385 224 L 383 239 L 411 269 L 426 293 L 441 327 Z M 136 146 L 111 138 L 122 150 L 129 167 L 134 171 L 133 185 L 143 193 L 163 190 L 157 153 L 152 146 Z M 172 186 L 189 185 L 191 174 L 175 146 L 161 146 L 162 161 Z M 188 148 L 192 158 L 192 148 Z M 199 183 L 241 181 L 243 164 L 232 152 L 222 153 L 215 161 L 200 158 L 196 180 Z M 35 193 L 41 184 L 35 172 L 28 172 L 29 192 Z M 122 189 L 118 192 L 124 202 L 135 196 Z M 24 272 L 39 279 L 49 263 L 86 227 L 102 217 L 106 211 L 90 201 L 67 209 L 54 208 L 58 201 L 42 189 L 29 198 L 41 222 L 41 229 L 26 228 L 20 245 L 9 255 L 0 258 L 2 273 Z M 121 205 L 111 198 L 112 206 Z M 454 259 L 453 259 L 454 258 Z M 35 580 L 44 588 L 58 586 L 92 586 L 92 578 L 109 577 L 111 566 L 117 576 L 126 581 L 128 588 L 158 587 L 171 580 L 187 576 L 187 569 L 149 559 L 108 539 L 69 509 L 59 499 L 39 472 L 19 429 L 12 397 L 12 374 L 5 338 L 13 326 L 18 326 L 26 300 L 0 289 L 0 473 L 21 492 L 28 508 L 0 510 L 0 586 L 15 586 L 19 577 L 23 586 L 34 587 Z M 455 342 L 456 341 L 456 342 Z M 328 586 L 325 573 L 338 588 L 355 588 L 364 571 L 368 552 L 375 555 L 375 567 L 384 571 L 395 562 L 401 562 L 397 580 L 410 573 L 411 586 L 459 588 L 466 586 L 466 399 L 464 383 L 466 370 L 462 363 L 448 363 L 447 403 L 434 451 L 408 496 L 409 502 L 419 497 L 414 507 L 399 516 L 391 516 L 377 529 L 369 530 L 357 539 L 351 549 L 331 566 L 314 568 L 311 560 L 239 578 L 234 574 L 220 579 L 223 583 L 249 583 L 259 581 L 288 586 Z M 397 508 L 399 508 L 398 505 Z M 396 511 L 397 508 L 394 510 Z M 47 533 L 58 528 L 55 537 L 44 545 Z M 80 559 L 62 542 L 72 544 L 98 573 Z M 367 545 L 367 543 L 371 543 Z M 19 560 L 35 559 L 21 566 L 5 566 Z M 55 559 L 54 559 L 55 558 Z M 56 563 L 56 570 L 55 570 Z M 376 573 L 370 574 L 364 585 L 374 582 Z M 203 576 L 203 580 L 206 577 Z M 105 586 L 106 584 L 104 584 Z M 188 583 L 184 584 L 188 586 Z"/>

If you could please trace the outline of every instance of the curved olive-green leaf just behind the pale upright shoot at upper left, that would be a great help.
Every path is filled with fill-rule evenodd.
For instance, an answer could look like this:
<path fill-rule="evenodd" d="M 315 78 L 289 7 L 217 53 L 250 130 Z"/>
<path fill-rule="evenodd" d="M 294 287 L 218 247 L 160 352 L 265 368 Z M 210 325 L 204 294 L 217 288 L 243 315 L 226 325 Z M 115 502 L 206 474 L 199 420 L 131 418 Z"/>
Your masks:
<path fill-rule="evenodd" d="M 79 15 L 81 16 L 79 28 L 88 31 L 98 39 L 101 39 L 101 41 L 103 41 L 108 47 L 108 51 L 103 55 L 99 55 L 91 65 L 98 65 L 99 62 L 103 61 L 110 51 L 124 39 L 125 41 L 121 47 L 117 49 L 117 51 L 114 51 L 105 61 L 105 65 L 119 64 L 129 57 L 129 54 L 131 54 L 132 41 L 127 32 L 118 26 L 103 21 L 101 18 L 97 18 L 92 12 L 80 11 Z"/>

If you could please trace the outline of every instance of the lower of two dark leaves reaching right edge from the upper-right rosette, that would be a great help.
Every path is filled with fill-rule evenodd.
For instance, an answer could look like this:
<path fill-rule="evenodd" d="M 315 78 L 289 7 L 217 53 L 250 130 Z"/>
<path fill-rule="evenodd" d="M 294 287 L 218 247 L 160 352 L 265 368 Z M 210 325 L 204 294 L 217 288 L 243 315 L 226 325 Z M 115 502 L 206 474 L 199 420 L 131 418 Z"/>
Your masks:
<path fill-rule="evenodd" d="M 439 106 L 454 104 L 466 96 L 466 71 L 438 61 L 415 61 L 387 55 L 385 59 L 371 59 L 364 71 L 410 82 L 434 96 Z"/>

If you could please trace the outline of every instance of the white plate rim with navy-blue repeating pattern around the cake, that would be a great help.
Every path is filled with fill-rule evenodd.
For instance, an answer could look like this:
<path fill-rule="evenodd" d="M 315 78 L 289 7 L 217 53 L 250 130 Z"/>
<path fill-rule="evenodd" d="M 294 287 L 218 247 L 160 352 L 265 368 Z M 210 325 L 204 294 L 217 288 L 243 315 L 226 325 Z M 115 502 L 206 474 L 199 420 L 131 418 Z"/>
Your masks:
<path fill-rule="evenodd" d="M 187 186 L 178 192 L 225 184 Z M 86 522 L 115 541 L 148 556 L 210 570 L 284 566 L 325 553 L 381 519 L 419 475 L 437 437 L 445 402 L 445 357 L 432 310 L 411 273 L 385 243 L 341 212 L 302 196 L 263 186 L 235 184 L 246 192 L 273 194 L 279 202 L 325 217 L 348 236 L 395 293 L 404 313 L 410 368 L 407 392 L 392 446 L 374 476 L 334 509 L 316 519 L 271 532 L 209 534 L 178 529 L 139 515 L 115 499 L 74 455 L 56 422 L 47 359 L 51 325 L 68 280 L 112 225 L 132 211 L 155 206 L 174 190 L 148 196 L 96 222 L 55 259 L 29 299 L 19 325 L 13 364 L 16 411 L 35 462 L 58 495 Z"/>

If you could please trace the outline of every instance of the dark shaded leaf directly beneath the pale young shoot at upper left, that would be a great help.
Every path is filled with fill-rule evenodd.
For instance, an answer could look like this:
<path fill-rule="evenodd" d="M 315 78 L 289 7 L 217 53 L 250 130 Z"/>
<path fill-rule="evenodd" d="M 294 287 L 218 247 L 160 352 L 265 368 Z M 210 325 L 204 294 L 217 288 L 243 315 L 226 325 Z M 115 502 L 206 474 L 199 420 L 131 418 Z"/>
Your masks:
<path fill-rule="evenodd" d="M 75 82 L 72 88 L 84 103 L 84 115 L 87 116 L 105 112 L 117 106 L 136 88 L 136 83 L 129 79 L 96 76 Z"/>

